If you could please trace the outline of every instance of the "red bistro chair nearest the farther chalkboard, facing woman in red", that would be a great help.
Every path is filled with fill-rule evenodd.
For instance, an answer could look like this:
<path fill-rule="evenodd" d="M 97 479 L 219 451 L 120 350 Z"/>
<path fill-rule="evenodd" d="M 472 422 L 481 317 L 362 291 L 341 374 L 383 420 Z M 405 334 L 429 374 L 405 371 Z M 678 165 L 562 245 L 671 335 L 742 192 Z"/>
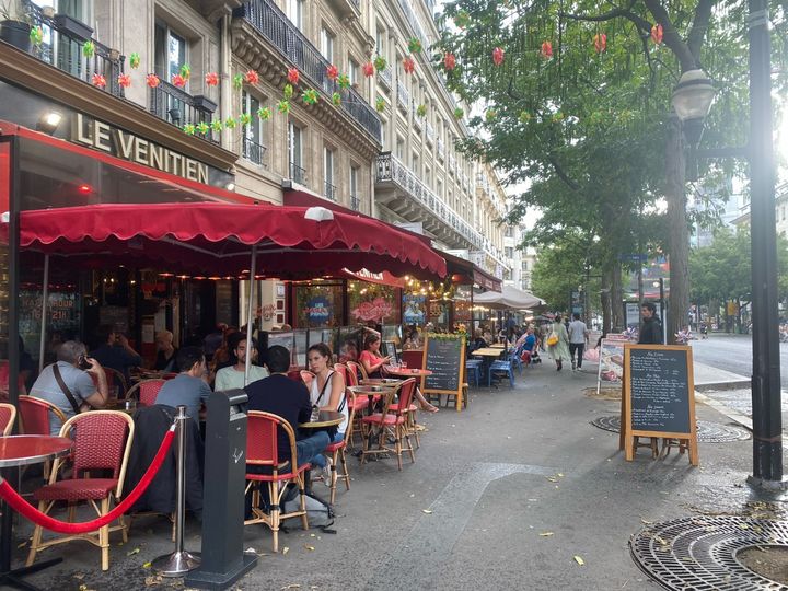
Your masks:
<path fill-rule="evenodd" d="M 416 380 L 413 378 L 405 380 L 384 394 L 380 413 L 361 418 L 362 434 L 364 436 L 364 447 L 361 452 L 362 464 L 367 461 L 368 455 L 395 453 L 397 456 L 397 467 L 402 470 L 403 439 L 407 441 L 410 462 L 416 461 L 413 445 L 410 444 L 410 433 L 407 429 L 407 413 L 415 390 Z M 394 403 L 395 396 L 398 396 L 397 403 Z M 376 433 L 373 431 L 375 428 L 378 428 Z M 394 437 L 394 449 L 385 445 L 386 437 L 390 434 Z M 371 440 L 375 437 L 378 439 L 378 447 L 370 449 Z"/>

